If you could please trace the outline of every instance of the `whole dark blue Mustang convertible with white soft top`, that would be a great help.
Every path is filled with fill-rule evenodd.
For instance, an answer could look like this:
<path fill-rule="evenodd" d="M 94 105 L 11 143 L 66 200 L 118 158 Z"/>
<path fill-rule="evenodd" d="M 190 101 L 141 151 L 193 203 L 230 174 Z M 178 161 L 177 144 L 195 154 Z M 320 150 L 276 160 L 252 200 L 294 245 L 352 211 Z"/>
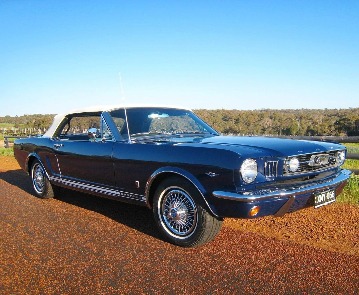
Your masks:
<path fill-rule="evenodd" d="M 191 110 L 96 106 L 17 139 L 36 195 L 60 187 L 147 206 L 176 245 L 207 243 L 224 217 L 283 216 L 336 200 L 350 177 L 334 142 L 222 136 Z"/>

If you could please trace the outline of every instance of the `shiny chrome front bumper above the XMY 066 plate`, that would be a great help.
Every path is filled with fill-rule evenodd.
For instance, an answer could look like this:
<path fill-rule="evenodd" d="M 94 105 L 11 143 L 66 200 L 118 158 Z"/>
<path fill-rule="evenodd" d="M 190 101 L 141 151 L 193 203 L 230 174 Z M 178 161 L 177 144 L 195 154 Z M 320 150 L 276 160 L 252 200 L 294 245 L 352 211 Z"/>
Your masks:
<path fill-rule="evenodd" d="M 350 174 L 351 171 L 342 169 L 338 174 L 335 175 L 336 177 L 331 178 L 329 180 L 321 181 L 317 184 L 299 186 L 298 188 L 293 188 L 293 189 L 287 188 L 283 190 L 276 190 L 275 192 L 270 192 L 262 195 L 255 195 L 255 194 L 243 195 L 241 193 L 218 191 L 218 190 L 214 191 L 213 195 L 221 199 L 235 200 L 239 202 L 253 202 L 253 201 L 260 201 L 270 198 L 282 198 L 282 197 L 299 195 L 308 192 L 314 192 L 316 190 L 330 188 L 331 186 L 341 184 L 344 181 L 349 181 Z"/>

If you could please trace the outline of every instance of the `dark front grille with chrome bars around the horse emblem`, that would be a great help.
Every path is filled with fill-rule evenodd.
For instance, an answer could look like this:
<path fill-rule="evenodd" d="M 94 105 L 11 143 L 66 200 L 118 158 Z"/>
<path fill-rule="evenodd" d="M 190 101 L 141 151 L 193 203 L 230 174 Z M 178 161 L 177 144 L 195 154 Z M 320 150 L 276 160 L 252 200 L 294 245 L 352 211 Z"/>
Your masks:
<path fill-rule="evenodd" d="M 318 171 L 318 170 L 324 170 L 330 167 L 334 167 L 337 165 L 336 162 L 336 153 L 337 151 L 330 151 L 330 152 L 322 152 L 322 153 L 315 153 L 315 154 L 308 154 L 308 155 L 300 155 L 295 156 L 299 161 L 299 167 L 297 172 L 289 172 L 286 170 L 285 165 L 283 167 L 283 175 L 292 175 L 292 174 L 299 174 L 304 172 L 311 172 L 311 171 Z M 328 163 L 318 166 L 310 166 L 309 162 L 311 160 L 311 157 L 313 155 L 329 155 L 330 159 Z M 288 157 L 289 159 L 290 157 Z"/>

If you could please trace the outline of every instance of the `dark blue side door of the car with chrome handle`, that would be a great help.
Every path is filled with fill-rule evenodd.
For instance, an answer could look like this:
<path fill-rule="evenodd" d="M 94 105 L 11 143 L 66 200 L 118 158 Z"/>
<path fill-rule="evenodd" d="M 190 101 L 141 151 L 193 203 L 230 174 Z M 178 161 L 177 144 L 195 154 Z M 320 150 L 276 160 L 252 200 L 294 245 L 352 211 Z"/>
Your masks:
<path fill-rule="evenodd" d="M 98 118 L 102 120 L 100 129 L 108 130 L 103 119 Z M 81 117 L 81 120 L 86 121 L 84 117 Z M 75 126 L 73 128 L 75 129 Z M 64 185 L 79 190 L 115 197 L 117 193 L 112 161 L 112 149 L 115 142 L 111 136 L 108 136 L 108 133 L 99 130 L 99 138 L 91 139 L 86 131 L 66 134 L 56 142 L 55 156 L 61 181 Z"/>

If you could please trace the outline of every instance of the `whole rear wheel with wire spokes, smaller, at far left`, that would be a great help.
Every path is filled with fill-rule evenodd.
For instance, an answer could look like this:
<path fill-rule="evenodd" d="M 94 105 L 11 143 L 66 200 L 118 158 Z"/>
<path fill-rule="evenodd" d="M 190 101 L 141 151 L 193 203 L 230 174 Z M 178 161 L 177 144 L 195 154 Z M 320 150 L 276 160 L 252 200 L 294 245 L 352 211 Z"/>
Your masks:
<path fill-rule="evenodd" d="M 38 160 L 35 160 L 31 167 L 31 180 L 34 191 L 39 198 L 53 198 L 59 187 L 52 185 L 46 177 L 45 169 Z"/>

